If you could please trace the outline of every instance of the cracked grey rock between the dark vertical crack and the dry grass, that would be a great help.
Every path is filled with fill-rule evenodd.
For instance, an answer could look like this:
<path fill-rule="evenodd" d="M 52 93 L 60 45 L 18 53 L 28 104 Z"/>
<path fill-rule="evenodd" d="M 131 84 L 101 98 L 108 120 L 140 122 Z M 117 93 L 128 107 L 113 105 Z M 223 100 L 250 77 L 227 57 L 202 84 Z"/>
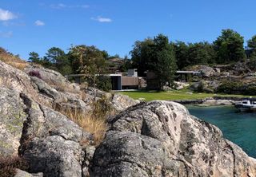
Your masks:
<path fill-rule="evenodd" d="M 93 136 L 59 112 L 21 95 L 26 105 L 19 154 L 29 163 L 30 172 L 44 176 L 83 176 L 89 174 L 86 148 Z"/>

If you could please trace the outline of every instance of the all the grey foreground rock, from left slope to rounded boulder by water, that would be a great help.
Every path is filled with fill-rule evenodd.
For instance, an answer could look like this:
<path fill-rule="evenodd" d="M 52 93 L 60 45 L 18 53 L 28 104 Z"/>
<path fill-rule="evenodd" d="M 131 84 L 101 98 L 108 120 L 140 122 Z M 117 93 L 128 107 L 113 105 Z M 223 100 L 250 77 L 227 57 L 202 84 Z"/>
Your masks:
<path fill-rule="evenodd" d="M 52 107 L 89 112 L 94 97 L 82 91 L 50 69 L 23 72 L 0 61 L 0 155 L 27 162 L 16 177 L 256 175 L 256 159 L 173 101 L 138 103 L 97 92 L 97 99 L 109 97 L 115 113 L 96 145 L 91 132 Z"/>

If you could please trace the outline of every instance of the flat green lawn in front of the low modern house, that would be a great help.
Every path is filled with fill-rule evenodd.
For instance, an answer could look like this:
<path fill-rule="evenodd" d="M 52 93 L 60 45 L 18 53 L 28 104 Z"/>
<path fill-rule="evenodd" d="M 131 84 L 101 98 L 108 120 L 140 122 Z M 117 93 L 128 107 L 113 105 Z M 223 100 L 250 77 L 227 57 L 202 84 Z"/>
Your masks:
<path fill-rule="evenodd" d="M 156 91 L 134 91 L 134 92 L 119 92 L 120 94 L 130 96 L 134 99 L 144 98 L 146 101 L 150 100 L 195 100 L 212 96 L 238 96 L 249 97 L 242 95 L 224 95 L 214 93 L 192 93 L 188 90 L 182 91 L 169 91 L 169 92 L 156 92 Z"/>

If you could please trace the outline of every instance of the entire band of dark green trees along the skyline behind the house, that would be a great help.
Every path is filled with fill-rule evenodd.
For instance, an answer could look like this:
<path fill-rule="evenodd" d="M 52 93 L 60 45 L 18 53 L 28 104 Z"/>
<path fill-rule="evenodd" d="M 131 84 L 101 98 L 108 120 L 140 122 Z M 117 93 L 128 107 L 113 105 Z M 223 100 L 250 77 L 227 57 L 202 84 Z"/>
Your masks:
<path fill-rule="evenodd" d="M 169 41 L 168 37 L 159 34 L 144 41 L 135 41 L 130 51 L 131 60 L 123 62 L 121 71 L 137 68 L 139 76 L 146 76 L 146 72 L 154 73 L 159 89 L 174 81 L 176 69 L 186 69 L 190 65 L 230 64 L 245 61 L 250 58 L 256 68 L 256 35 L 247 41 L 244 49 L 244 38 L 234 30 L 222 30 L 220 36 L 212 43 L 201 41 L 185 43 L 183 41 Z M 70 73 L 94 74 L 110 73 L 109 59 L 119 57 L 109 56 L 105 50 L 95 46 L 71 46 L 67 53 L 57 47 L 50 48 L 46 56 L 39 57 L 31 52 L 29 60 L 47 68 L 58 70 L 63 75 Z M 95 83 L 95 79 L 90 79 Z M 155 84 L 155 83 L 154 83 Z"/>

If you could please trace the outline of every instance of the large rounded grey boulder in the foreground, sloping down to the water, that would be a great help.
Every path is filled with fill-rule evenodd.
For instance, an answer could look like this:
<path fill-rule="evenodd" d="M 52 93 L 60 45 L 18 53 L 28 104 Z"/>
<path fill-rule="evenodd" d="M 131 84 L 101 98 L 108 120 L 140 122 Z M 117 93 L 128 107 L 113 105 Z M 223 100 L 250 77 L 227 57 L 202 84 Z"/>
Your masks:
<path fill-rule="evenodd" d="M 255 176 L 256 160 L 181 104 L 153 101 L 110 120 L 94 176 Z"/>

